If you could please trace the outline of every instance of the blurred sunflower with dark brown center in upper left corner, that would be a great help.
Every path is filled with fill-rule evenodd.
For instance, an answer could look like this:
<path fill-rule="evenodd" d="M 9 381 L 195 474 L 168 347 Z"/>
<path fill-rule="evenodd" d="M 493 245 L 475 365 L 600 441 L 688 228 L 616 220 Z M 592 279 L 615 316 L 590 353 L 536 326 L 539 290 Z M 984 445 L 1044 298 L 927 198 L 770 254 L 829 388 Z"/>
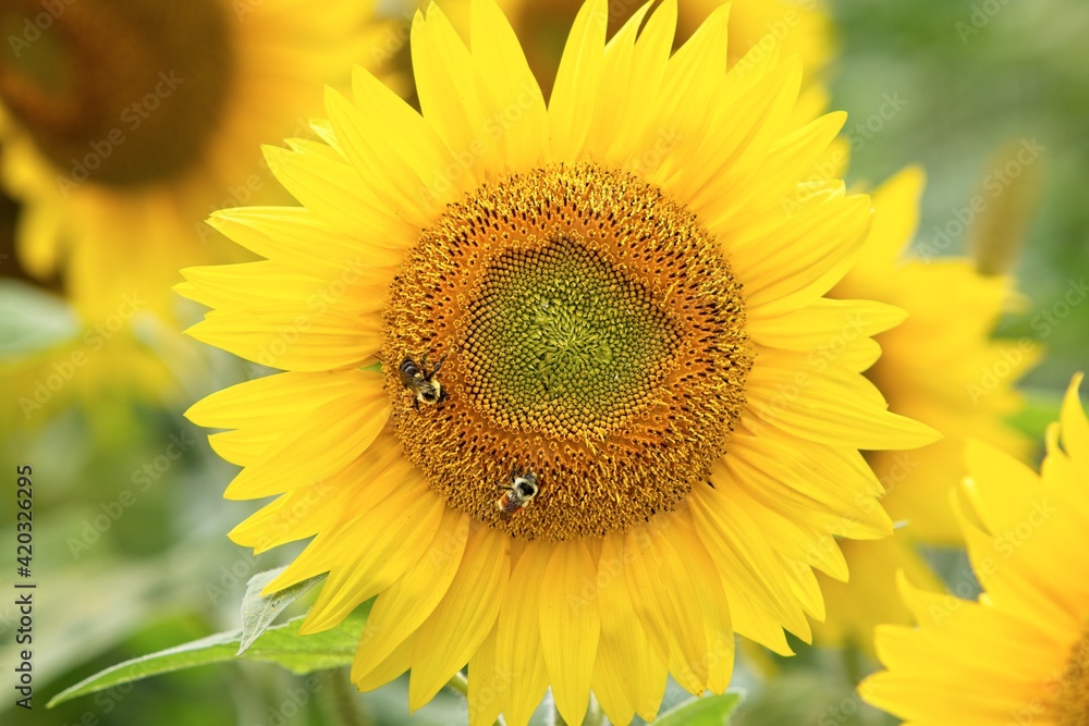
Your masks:
<path fill-rule="evenodd" d="M 0 7 L 0 176 L 17 253 L 91 318 L 168 307 L 183 264 L 223 261 L 204 218 L 274 187 L 256 152 L 305 127 L 365 59 L 366 3 L 14 0 Z M 237 258 L 235 258 L 237 259 Z"/>

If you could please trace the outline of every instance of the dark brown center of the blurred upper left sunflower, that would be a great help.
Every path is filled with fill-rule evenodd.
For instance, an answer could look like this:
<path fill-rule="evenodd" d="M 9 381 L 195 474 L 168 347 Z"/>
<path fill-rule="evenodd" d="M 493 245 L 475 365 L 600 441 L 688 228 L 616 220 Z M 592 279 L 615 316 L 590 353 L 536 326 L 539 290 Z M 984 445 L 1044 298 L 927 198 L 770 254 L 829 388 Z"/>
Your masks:
<path fill-rule="evenodd" d="M 0 99 L 58 183 L 144 184 L 197 162 L 230 90 L 228 4 L 54 4 L 0 7 Z"/>

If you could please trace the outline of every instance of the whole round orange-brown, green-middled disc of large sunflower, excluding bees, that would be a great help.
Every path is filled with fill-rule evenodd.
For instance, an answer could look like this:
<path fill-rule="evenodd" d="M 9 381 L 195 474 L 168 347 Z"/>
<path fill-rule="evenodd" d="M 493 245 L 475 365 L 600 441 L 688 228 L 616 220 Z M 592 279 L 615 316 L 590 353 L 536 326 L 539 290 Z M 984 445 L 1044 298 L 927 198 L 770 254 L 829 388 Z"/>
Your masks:
<path fill-rule="evenodd" d="M 486 184 L 423 232 L 391 286 L 394 427 L 451 506 L 516 537 L 645 522 L 707 476 L 741 415 L 741 293 L 696 217 L 626 172 Z M 441 402 L 419 403 L 405 359 L 421 374 L 442 360 Z M 536 494 L 512 504 L 526 472 Z"/>

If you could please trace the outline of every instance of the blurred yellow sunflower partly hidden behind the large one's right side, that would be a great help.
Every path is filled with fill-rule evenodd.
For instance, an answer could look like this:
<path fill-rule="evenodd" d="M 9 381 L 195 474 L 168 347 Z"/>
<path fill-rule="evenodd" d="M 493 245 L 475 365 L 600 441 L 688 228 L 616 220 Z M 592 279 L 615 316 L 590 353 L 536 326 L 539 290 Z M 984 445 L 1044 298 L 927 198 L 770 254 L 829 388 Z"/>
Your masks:
<path fill-rule="evenodd" d="M 884 484 L 885 509 L 904 527 L 891 540 L 844 543 L 851 581 L 821 578 L 830 614 L 817 638 L 825 643 L 871 650 L 873 626 L 909 623 L 895 595 L 900 569 L 919 585 L 940 587 L 916 545 L 963 542 L 943 503 L 964 470 L 966 438 L 1021 459 L 1031 452 L 1028 439 L 1005 420 L 1021 405 L 1012 386 L 1036 361 L 1037 346 L 991 339 L 1014 299 L 1013 283 L 980 274 L 968 259 L 911 255 L 922 185 L 921 171 L 910 168 L 877 190 L 862 253 L 831 296 L 877 299 L 908 312 L 903 324 L 877 336 L 882 355 L 866 376 L 892 410 L 932 426 L 944 439 L 913 452 L 867 454 Z"/>

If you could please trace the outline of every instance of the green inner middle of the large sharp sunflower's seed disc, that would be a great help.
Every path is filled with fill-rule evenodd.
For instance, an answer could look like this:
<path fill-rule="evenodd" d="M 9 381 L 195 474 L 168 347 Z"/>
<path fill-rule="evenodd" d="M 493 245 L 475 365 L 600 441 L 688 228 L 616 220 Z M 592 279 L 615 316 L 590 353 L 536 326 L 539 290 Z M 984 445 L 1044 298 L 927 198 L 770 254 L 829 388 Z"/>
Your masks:
<path fill-rule="evenodd" d="M 652 293 L 577 234 L 506 249 L 468 306 L 466 394 L 504 429 L 600 436 L 653 395 L 678 342 Z"/>

